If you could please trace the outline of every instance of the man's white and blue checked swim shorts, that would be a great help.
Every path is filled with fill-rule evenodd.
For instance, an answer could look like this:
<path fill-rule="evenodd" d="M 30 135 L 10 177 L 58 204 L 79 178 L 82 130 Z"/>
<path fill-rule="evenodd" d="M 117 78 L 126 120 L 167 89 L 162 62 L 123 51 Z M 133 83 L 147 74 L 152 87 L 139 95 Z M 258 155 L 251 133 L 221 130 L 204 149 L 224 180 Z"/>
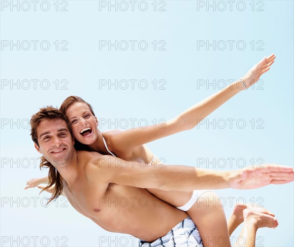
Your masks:
<path fill-rule="evenodd" d="M 195 223 L 188 217 L 152 243 L 139 239 L 139 247 L 203 247 L 203 245 Z"/>

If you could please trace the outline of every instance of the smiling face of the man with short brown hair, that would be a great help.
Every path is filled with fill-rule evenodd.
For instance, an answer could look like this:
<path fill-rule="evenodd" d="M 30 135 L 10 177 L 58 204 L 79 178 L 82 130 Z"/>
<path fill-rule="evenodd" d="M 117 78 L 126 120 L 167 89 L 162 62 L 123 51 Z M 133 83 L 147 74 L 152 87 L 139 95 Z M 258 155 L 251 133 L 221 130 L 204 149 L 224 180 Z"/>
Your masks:
<path fill-rule="evenodd" d="M 43 120 L 36 129 L 39 147 L 35 148 L 52 165 L 62 165 L 73 157 L 74 141 L 64 120 Z"/>

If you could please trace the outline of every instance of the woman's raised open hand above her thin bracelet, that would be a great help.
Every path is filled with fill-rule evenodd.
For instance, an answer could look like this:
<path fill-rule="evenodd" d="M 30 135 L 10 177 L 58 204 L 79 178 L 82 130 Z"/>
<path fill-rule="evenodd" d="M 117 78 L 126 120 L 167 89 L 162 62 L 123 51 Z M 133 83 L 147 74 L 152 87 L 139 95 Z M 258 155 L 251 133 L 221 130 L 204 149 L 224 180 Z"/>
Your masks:
<path fill-rule="evenodd" d="M 259 80 L 259 77 L 270 70 L 276 56 L 271 54 L 269 57 L 264 57 L 259 63 L 255 64 L 241 79 L 244 80 L 246 88 L 251 87 Z"/>

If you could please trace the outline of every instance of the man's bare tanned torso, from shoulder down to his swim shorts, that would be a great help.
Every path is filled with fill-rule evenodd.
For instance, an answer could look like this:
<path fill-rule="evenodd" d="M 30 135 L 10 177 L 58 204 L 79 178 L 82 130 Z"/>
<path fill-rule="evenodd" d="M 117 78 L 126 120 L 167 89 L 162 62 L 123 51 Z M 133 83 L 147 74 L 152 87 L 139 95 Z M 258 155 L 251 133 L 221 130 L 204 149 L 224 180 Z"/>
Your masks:
<path fill-rule="evenodd" d="M 99 157 L 96 152 L 77 151 L 79 176 L 74 184 L 78 186 L 69 188 L 65 183 L 64 188 L 73 207 L 93 217 L 98 225 L 151 242 L 188 217 L 145 189 L 109 184 L 99 172 L 94 176 L 92 162 Z"/>

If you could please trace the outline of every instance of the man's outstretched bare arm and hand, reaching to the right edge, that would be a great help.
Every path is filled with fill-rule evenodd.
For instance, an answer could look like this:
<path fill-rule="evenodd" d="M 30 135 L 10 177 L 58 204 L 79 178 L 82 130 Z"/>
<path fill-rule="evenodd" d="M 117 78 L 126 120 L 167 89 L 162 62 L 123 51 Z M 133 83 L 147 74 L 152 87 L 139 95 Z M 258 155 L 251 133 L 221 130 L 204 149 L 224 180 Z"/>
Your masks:
<path fill-rule="evenodd" d="M 154 164 L 153 164 L 154 165 Z M 294 180 L 293 168 L 276 164 L 264 168 L 247 167 L 235 171 L 214 171 L 189 166 L 140 166 L 105 155 L 91 162 L 89 174 L 107 183 L 156 188 L 166 191 L 196 189 L 256 189 L 269 184 L 284 184 Z"/>

